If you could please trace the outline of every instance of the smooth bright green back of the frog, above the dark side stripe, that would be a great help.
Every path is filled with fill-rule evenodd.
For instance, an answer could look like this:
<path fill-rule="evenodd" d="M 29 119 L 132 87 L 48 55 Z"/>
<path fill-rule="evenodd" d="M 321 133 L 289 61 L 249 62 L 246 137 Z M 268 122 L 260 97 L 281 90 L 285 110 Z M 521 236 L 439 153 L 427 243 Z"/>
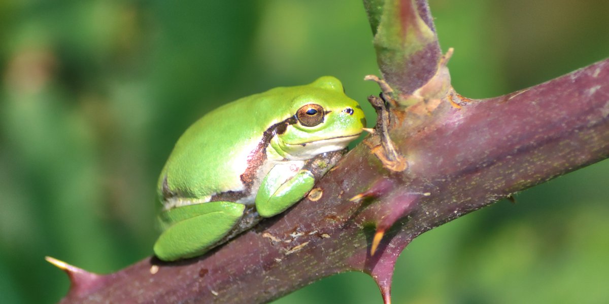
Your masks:
<path fill-rule="evenodd" d="M 294 97 L 281 89 L 228 103 L 191 125 L 178 139 L 161 172 L 160 194 L 166 187 L 178 198 L 206 201 L 219 193 L 245 190 L 241 175 L 262 134 L 290 117 L 286 103 Z"/>

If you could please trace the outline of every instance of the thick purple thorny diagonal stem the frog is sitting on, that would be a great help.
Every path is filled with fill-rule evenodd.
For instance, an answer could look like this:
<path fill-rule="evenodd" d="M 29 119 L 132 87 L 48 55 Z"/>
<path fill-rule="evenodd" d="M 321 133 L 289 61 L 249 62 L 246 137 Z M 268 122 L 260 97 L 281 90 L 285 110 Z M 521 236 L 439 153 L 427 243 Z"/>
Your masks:
<path fill-rule="evenodd" d="M 429 115 L 421 102 L 394 111 L 390 134 L 409 162 L 402 173 L 359 145 L 317 184 L 321 198 L 304 199 L 203 257 L 147 258 L 102 276 L 63 303 L 263 303 L 353 270 L 370 273 L 388 299 L 390 270 L 412 238 L 608 157 L 608 80 L 605 60 L 460 109 L 441 102 Z M 367 199 L 350 200 L 359 193 Z M 390 229 L 371 256 L 367 227 L 383 225 Z"/>

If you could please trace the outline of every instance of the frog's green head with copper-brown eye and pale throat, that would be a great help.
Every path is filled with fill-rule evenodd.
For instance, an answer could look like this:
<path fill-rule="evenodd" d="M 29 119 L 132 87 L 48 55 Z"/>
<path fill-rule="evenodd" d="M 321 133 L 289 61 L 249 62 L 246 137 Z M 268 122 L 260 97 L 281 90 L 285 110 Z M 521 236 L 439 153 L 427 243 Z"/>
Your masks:
<path fill-rule="evenodd" d="M 294 116 L 276 132 L 273 148 L 287 159 L 311 159 L 338 151 L 366 126 L 364 111 L 347 97 L 340 81 L 324 76 L 309 85 L 295 87 L 290 111 Z"/>

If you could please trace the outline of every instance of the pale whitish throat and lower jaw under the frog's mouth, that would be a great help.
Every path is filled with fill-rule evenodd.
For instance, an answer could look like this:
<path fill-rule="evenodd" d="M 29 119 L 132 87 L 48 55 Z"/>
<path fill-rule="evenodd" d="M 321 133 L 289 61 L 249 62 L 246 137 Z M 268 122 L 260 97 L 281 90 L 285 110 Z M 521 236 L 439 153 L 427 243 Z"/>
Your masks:
<path fill-rule="evenodd" d="M 312 159 L 318 154 L 339 151 L 356 139 L 360 133 L 348 136 L 338 136 L 329 139 L 314 140 L 297 144 L 289 144 L 278 136 L 270 140 L 269 154 L 277 154 L 289 161 L 305 161 Z"/>

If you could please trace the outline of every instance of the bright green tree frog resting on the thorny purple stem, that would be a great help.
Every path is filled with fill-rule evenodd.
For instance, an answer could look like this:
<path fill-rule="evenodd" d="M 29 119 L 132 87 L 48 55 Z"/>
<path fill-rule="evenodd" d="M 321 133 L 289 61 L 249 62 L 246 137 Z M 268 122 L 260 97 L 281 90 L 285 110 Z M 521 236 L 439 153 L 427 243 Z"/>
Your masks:
<path fill-rule="evenodd" d="M 158 181 L 154 245 L 166 261 L 205 254 L 305 197 L 365 127 L 342 83 L 324 76 L 209 112 L 178 139 Z"/>

